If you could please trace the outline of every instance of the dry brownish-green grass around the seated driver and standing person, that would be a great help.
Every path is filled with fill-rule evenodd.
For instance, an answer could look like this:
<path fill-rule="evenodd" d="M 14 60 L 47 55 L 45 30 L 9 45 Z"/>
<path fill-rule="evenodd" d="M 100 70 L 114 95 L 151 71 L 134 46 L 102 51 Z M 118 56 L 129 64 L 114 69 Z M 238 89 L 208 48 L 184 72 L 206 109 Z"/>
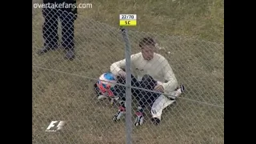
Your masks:
<path fill-rule="evenodd" d="M 133 143 L 224 143 L 224 109 L 218 107 L 224 106 L 223 1 L 83 3 L 92 3 L 93 8 L 78 10 L 77 57 L 73 62 L 63 59 L 62 50 L 40 57 L 36 54 L 42 47 L 43 18 L 40 10 L 34 10 L 34 143 L 126 142 L 124 119 L 111 121 L 117 107 L 98 101 L 92 87 L 94 78 L 109 70 L 112 62 L 124 58 L 118 14 L 138 14 L 138 26 L 128 28 L 132 53 L 139 51 L 140 38 L 154 37 L 165 48 L 158 53 L 168 59 L 178 82 L 186 86 L 182 98 L 164 110 L 160 126 L 153 126 L 147 116 L 145 125 L 133 127 Z M 66 126 L 57 133 L 45 133 L 54 120 L 66 121 Z"/>

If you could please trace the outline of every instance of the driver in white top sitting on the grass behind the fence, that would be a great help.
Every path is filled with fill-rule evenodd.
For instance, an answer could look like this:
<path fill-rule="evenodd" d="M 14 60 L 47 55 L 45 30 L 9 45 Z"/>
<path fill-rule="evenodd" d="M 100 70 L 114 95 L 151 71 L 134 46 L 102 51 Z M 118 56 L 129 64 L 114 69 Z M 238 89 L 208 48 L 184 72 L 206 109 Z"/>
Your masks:
<path fill-rule="evenodd" d="M 143 38 L 138 46 L 142 51 L 138 54 L 131 55 L 130 61 L 132 74 L 142 83 L 139 87 L 146 88 L 147 86 L 154 86 L 147 88 L 147 90 L 156 90 L 158 92 L 172 94 L 172 96 L 168 98 L 168 96 L 166 97 L 163 94 L 146 92 L 145 90 L 134 90 L 133 94 L 139 99 L 134 124 L 135 126 L 142 125 L 145 104 L 149 101 L 151 105 L 151 120 L 154 124 L 158 124 L 161 121 L 162 110 L 175 102 L 177 96 L 184 91 L 184 86 L 178 85 L 178 81 L 166 58 L 160 54 L 154 53 L 156 48 L 153 38 Z M 110 71 L 116 76 L 125 78 L 125 68 L 126 59 L 123 59 L 114 62 L 110 66 Z M 125 111 L 125 102 L 121 102 L 121 106 L 119 107 L 118 113 L 115 114 L 114 120 L 119 119 Z"/>

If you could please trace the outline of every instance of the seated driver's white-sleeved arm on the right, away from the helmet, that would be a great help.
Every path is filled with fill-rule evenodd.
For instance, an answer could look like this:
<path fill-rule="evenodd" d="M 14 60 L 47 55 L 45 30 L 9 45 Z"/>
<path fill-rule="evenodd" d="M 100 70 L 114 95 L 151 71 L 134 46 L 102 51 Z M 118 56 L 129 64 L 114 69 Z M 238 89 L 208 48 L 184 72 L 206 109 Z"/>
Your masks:
<path fill-rule="evenodd" d="M 170 67 L 169 62 L 165 59 L 162 62 L 163 65 L 163 76 L 166 82 L 162 84 L 164 91 L 174 91 L 178 87 L 178 81 L 175 78 L 174 71 Z"/>

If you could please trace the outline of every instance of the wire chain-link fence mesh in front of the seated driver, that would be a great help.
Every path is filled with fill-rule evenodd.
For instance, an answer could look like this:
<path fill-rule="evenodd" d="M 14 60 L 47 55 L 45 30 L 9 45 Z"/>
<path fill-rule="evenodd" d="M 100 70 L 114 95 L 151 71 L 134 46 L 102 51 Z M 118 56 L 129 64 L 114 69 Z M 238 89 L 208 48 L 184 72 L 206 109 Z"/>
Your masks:
<path fill-rule="evenodd" d="M 62 17 L 67 16 L 59 14 L 56 20 L 62 22 L 58 22 L 55 27 L 62 25 L 67 29 L 68 22 L 63 22 Z M 72 45 L 68 47 L 72 43 L 70 37 L 64 38 L 68 45 L 63 45 L 62 37 L 70 32 L 65 33 L 65 29 L 59 29 L 56 30 L 58 37 L 54 37 L 57 34 L 53 32 L 55 21 L 52 22 L 52 18 L 50 17 L 50 22 L 47 23 L 47 29 L 42 30 L 42 24 L 45 22 L 42 13 L 33 15 L 34 143 L 126 143 L 127 135 L 131 136 L 131 142 L 140 144 L 224 143 L 222 44 L 129 30 L 130 45 L 128 45 L 120 29 L 79 15 L 74 22 L 74 47 Z M 70 30 L 70 27 L 68 29 Z M 42 31 L 48 36 L 43 36 Z M 43 37 L 49 38 L 48 43 L 62 41 L 56 47 L 53 46 L 58 49 L 45 50 L 43 52 L 46 53 L 42 54 L 42 47 L 49 46 L 44 44 Z M 131 47 L 131 54 L 139 53 L 141 51 L 139 42 L 145 37 L 154 38 L 157 42 L 156 53 L 167 59 L 178 83 L 185 86 L 185 91 L 176 102 L 162 111 L 158 126 L 151 122 L 150 106 L 146 106 L 143 110 L 142 114 L 145 115 L 142 126 L 134 125 L 140 105 L 138 98 L 134 96 L 134 91 L 131 91 L 132 122 L 126 125 L 125 116 L 119 121 L 113 120 L 114 114 L 119 110 L 118 102 L 121 99 L 114 102 L 114 105 L 110 105 L 110 101 L 106 99 L 99 100 L 94 85 L 102 74 L 110 71 L 111 64 L 125 58 L 125 46 Z M 66 54 L 73 48 L 74 59 L 65 59 Z M 142 74 L 155 72 L 159 74 L 159 78 L 164 77 L 166 66 L 161 68 L 161 62 L 158 62 L 159 67 L 156 66 L 155 71 L 146 71 L 155 65 L 147 63 Z M 132 67 L 131 71 L 136 71 L 136 68 Z M 122 84 L 126 83 L 117 83 L 113 88 L 119 89 L 118 94 L 121 95 L 123 91 L 120 88 L 124 86 Z M 108 90 L 104 87 L 104 83 L 99 82 L 98 86 Z M 146 89 L 146 84 L 139 86 Z M 132 89 L 134 90 L 134 87 Z M 117 94 L 116 90 L 113 91 L 114 95 Z M 150 97 L 145 90 L 137 95 L 139 98 Z M 154 95 L 159 97 L 158 93 Z M 171 98 L 166 100 L 166 102 L 170 101 Z M 158 122 L 158 119 L 155 120 Z M 46 132 L 52 121 L 64 121 L 66 124 L 62 126 L 62 130 L 55 133 Z M 132 126 L 132 129 L 126 129 L 126 126 Z M 127 134 L 127 130 L 132 130 L 131 135 Z"/>

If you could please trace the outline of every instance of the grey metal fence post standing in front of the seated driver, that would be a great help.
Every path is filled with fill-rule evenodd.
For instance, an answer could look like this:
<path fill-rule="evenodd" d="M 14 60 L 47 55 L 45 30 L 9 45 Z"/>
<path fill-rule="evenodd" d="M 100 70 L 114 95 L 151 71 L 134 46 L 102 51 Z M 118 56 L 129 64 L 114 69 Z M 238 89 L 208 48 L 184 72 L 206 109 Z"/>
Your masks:
<path fill-rule="evenodd" d="M 126 53 L 126 144 L 131 144 L 132 121 L 131 121 L 131 72 L 130 72 L 130 42 L 126 29 L 122 29 L 122 37 L 125 41 Z"/>

